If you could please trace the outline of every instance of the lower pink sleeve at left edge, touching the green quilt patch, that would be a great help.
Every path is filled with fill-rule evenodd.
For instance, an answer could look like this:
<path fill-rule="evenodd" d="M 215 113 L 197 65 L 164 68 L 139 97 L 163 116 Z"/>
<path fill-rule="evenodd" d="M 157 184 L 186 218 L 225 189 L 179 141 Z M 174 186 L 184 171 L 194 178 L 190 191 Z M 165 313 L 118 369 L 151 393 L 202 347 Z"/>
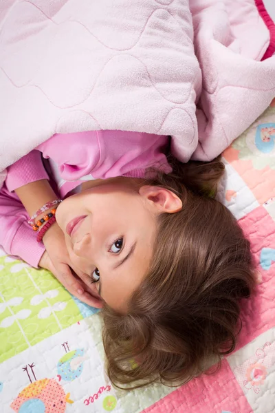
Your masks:
<path fill-rule="evenodd" d="M 6 253 L 17 255 L 38 267 L 45 247 L 36 241 L 36 233 L 27 222 L 28 214 L 15 193 L 5 184 L 0 191 L 0 245 Z"/>

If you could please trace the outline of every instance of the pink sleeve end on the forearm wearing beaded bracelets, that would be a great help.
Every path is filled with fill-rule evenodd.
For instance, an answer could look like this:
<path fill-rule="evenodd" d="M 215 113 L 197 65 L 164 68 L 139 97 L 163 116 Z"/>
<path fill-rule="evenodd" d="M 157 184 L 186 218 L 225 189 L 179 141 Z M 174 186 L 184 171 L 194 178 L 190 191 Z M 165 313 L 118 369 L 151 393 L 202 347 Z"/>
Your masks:
<path fill-rule="evenodd" d="M 36 149 L 10 165 L 7 173 L 5 184 L 10 192 L 30 182 L 49 179 L 42 162 L 41 152 Z"/>

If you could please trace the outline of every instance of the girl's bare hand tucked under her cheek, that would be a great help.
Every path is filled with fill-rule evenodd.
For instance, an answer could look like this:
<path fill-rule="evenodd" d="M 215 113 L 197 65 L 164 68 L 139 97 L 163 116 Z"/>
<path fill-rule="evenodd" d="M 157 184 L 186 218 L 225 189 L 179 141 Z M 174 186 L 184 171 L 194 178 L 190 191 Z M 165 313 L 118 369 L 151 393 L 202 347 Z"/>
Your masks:
<path fill-rule="evenodd" d="M 46 251 L 41 257 L 39 266 L 51 271 L 69 293 L 75 295 L 80 301 L 89 306 L 101 308 L 102 300 L 92 295 L 89 286 L 83 282 L 85 275 L 78 268 L 74 268 L 67 252 L 64 234 L 56 223 L 45 233 L 43 243 Z M 76 275 L 72 273 L 71 268 Z"/>

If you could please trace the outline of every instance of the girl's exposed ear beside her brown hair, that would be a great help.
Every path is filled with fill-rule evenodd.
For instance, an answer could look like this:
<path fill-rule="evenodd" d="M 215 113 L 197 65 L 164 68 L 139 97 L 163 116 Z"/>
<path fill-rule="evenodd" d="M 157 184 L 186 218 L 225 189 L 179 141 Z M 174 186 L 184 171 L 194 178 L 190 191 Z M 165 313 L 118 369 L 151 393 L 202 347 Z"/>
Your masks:
<path fill-rule="evenodd" d="M 181 199 L 173 191 L 169 191 L 169 189 L 155 187 L 154 185 L 144 185 L 140 188 L 139 193 L 144 200 L 149 202 L 159 212 L 175 213 L 182 208 Z"/>

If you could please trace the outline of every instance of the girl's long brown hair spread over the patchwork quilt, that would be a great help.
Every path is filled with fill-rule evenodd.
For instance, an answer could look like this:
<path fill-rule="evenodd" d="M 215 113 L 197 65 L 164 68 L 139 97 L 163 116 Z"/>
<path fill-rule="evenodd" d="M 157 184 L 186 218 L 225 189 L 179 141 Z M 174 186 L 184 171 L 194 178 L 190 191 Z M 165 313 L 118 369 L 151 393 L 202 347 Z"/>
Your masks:
<path fill-rule="evenodd" d="M 234 350 L 239 299 L 254 286 L 250 243 L 214 199 L 223 164 L 173 162 L 151 181 L 177 193 L 181 211 L 159 215 L 150 271 L 126 314 L 104 306 L 107 374 L 120 388 L 179 385 Z M 148 182 L 147 182 L 148 183 Z"/>

